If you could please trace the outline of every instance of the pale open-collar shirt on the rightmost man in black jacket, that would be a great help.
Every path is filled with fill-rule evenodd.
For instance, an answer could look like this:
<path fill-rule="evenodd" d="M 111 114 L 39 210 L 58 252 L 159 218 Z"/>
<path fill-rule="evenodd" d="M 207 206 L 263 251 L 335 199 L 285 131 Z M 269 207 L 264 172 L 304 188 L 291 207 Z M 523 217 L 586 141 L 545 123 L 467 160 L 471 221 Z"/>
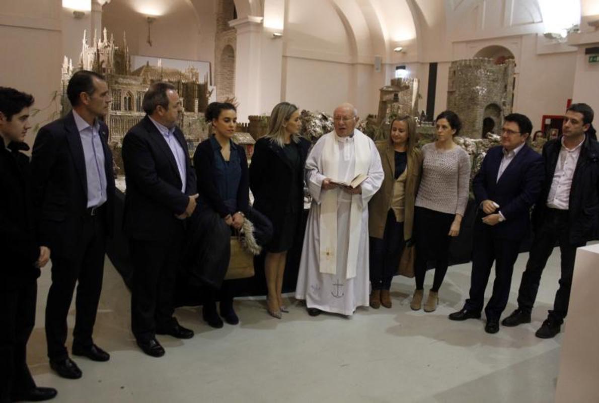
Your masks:
<path fill-rule="evenodd" d="M 586 139 L 586 136 L 585 136 Z M 567 210 L 570 205 L 570 188 L 572 187 L 572 179 L 574 178 L 574 170 L 580 157 L 580 149 L 582 139 L 579 145 L 574 148 L 567 148 L 564 145 L 562 137 L 562 146 L 559 150 L 558 163 L 555 165 L 555 173 L 553 173 L 553 181 L 547 196 L 547 207 L 552 209 Z"/>

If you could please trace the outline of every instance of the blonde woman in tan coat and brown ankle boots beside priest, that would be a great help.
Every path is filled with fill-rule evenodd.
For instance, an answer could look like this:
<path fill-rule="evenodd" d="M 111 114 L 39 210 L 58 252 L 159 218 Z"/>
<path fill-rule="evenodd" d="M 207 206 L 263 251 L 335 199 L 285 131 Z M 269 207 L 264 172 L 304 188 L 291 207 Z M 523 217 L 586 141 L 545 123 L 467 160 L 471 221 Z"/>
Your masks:
<path fill-rule="evenodd" d="M 408 115 L 391 122 L 389 140 L 377 143 L 385 179 L 368 203 L 370 306 L 391 308 L 391 280 L 406 242 L 412 239 L 414 203 L 420 181 L 416 121 Z"/>

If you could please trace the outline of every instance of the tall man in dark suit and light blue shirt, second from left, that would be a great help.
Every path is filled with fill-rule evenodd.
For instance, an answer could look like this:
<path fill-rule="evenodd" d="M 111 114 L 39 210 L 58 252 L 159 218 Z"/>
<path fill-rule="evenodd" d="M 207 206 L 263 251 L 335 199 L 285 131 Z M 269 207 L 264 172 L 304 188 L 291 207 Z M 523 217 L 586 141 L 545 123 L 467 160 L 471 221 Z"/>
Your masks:
<path fill-rule="evenodd" d="M 110 356 L 93 344 L 102 290 L 106 237 L 113 225 L 114 173 L 108 127 L 101 117 L 111 102 L 100 74 L 78 71 L 66 88 L 72 111 L 35 139 L 31 168 L 37 227 L 52 249 L 52 285 L 46 305 L 50 367 L 77 379 L 81 370 L 65 347 L 66 316 L 77 285 L 72 353 L 94 361 Z"/>

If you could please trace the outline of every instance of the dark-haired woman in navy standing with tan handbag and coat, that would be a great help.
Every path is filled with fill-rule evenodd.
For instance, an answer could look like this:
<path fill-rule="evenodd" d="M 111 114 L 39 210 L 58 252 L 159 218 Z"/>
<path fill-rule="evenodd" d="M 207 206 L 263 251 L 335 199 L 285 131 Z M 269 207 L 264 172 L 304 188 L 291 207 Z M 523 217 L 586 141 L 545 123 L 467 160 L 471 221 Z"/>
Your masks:
<path fill-rule="evenodd" d="M 219 328 L 223 321 L 216 312 L 217 298 L 226 323 L 239 323 L 233 309 L 236 280 L 223 279 L 231 258 L 232 230 L 241 228 L 249 209 L 249 185 L 246 152 L 232 140 L 237 128 L 235 106 L 213 102 L 205 119 L 213 135 L 199 143 L 193 155 L 199 197 L 190 240 L 194 246 L 187 258 L 192 266 L 190 281 L 208 287 L 202 317 Z"/>

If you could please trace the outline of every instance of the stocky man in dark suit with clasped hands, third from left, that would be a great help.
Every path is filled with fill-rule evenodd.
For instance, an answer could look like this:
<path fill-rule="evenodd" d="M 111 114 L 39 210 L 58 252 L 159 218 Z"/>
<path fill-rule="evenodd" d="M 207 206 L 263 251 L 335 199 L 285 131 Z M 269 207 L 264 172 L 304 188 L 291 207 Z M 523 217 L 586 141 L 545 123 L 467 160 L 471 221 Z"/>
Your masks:
<path fill-rule="evenodd" d="M 193 337 L 173 317 L 173 292 L 185 220 L 196 206 L 196 178 L 183 133 L 176 88 L 153 83 L 144 95 L 147 113 L 123 139 L 127 191 L 123 226 L 133 260 L 131 327 L 137 344 L 153 357 L 164 355 L 156 333 Z"/>

